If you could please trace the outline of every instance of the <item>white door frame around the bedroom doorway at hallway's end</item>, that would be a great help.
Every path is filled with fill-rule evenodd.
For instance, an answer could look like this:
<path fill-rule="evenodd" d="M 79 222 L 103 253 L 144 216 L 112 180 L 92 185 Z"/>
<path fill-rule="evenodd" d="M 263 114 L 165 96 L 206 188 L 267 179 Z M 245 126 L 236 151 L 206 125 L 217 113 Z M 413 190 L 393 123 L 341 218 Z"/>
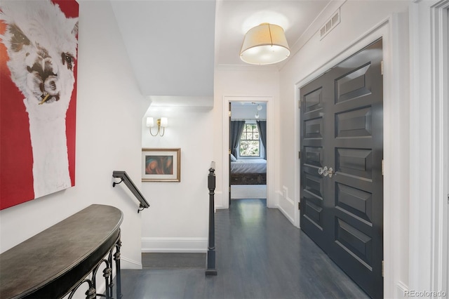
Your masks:
<path fill-rule="evenodd" d="M 217 208 L 229 208 L 229 103 L 267 103 L 267 207 L 276 208 L 274 197 L 274 97 L 267 95 L 223 95 L 223 135 L 222 135 L 222 202 Z"/>

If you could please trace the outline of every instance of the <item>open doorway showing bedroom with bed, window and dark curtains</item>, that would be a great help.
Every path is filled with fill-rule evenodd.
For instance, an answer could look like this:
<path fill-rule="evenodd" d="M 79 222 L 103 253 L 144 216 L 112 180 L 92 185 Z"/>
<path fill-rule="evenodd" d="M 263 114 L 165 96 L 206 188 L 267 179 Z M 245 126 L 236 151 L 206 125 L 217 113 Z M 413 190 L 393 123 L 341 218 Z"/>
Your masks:
<path fill-rule="evenodd" d="M 267 102 L 229 102 L 229 204 L 267 199 Z"/>

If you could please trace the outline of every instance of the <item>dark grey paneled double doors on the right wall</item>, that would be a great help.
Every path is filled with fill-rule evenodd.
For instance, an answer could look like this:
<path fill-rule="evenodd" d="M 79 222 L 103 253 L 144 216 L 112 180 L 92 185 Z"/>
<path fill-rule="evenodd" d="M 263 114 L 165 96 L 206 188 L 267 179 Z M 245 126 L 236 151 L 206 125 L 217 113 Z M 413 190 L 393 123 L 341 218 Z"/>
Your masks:
<path fill-rule="evenodd" d="M 379 40 L 300 90 L 301 228 L 373 298 L 383 295 L 381 61 Z M 332 175 L 319 175 L 325 166 Z"/>

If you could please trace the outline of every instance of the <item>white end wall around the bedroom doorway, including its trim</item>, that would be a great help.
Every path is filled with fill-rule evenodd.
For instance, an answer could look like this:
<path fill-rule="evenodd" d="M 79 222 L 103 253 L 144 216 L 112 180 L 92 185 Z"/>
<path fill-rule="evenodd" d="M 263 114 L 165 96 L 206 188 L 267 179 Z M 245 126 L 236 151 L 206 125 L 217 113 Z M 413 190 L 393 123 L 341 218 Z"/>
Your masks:
<path fill-rule="evenodd" d="M 277 157 L 276 145 L 279 145 L 277 128 L 279 106 L 279 72 L 254 72 L 243 69 L 215 69 L 213 124 L 213 159 L 217 162 L 217 189 L 215 207 L 227 208 L 229 202 L 229 165 L 227 162 L 229 147 L 228 102 L 259 101 L 267 99 L 267 204 L 277 206 L 276 180 Z M 271 114 L 270 114 L 271 111 Z"/>

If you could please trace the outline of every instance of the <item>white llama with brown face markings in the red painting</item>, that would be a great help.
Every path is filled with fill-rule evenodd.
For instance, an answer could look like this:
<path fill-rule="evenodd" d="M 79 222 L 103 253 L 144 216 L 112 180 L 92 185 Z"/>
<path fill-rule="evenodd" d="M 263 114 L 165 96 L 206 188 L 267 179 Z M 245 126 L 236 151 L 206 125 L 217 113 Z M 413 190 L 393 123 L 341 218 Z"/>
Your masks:
<path fill-rule="evenodd" d="M 72 186 L 65 117 L 75 82 L 78 18 L 67 18 L 49 0 L 1 0 L 0 20 L 11 79 L 25 96 L 37 198 Z"/>

